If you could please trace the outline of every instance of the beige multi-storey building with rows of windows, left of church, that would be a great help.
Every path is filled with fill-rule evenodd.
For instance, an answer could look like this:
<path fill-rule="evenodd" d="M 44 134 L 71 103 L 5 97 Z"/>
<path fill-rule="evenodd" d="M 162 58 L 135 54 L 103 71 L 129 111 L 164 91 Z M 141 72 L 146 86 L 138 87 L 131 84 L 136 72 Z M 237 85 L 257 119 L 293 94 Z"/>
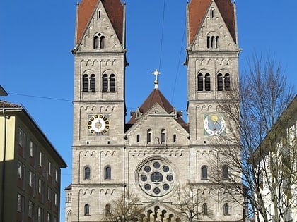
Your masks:
<path fill-rule="evenodd" d="M 64 167 L 28 111 L 0 100 L 0 221 L 59 222 Z"/>

